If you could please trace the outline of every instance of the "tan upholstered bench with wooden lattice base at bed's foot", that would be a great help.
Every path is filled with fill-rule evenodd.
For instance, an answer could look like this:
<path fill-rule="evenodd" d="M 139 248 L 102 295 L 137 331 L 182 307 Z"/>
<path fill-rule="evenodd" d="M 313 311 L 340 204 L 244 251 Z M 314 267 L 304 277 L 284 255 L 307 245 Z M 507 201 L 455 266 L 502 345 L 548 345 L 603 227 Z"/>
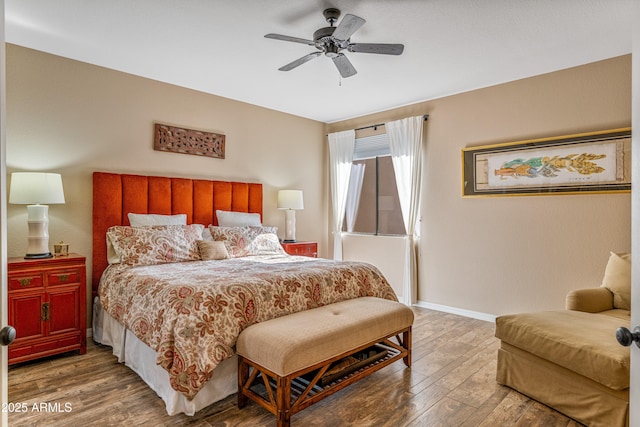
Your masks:
<path fill-rule="evenodd" d="M 404 304 L 364 297 L 249 326 L 236 343 L 238 407 L 251 399 L 288 426 L 293 414 L 399 359 L 411 366 L 412 324 Z"/>

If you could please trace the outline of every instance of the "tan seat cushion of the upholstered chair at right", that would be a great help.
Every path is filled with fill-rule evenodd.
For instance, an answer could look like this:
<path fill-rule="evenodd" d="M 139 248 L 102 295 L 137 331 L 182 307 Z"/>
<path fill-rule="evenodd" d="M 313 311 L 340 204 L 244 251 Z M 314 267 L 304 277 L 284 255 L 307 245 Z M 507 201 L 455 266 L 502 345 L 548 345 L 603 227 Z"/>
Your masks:
<path fill-rule="evenodd" d="M 629 387 L 629 348 L 616 341 L 623 319 L 581 311 L 500 316 L 496 337 L 614 390 Z"/>

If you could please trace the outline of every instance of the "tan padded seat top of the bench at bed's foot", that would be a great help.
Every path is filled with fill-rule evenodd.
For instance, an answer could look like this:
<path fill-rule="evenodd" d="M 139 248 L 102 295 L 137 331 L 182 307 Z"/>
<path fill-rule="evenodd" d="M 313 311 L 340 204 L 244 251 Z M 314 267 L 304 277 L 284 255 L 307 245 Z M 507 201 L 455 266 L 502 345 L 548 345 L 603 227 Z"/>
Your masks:
<path fill-rule="evenodd" d="M 412 324 L 413 311 L 404 304 L 355 298 L 251 325 L 238 337 L 236 351 L 286 376 Z"/>

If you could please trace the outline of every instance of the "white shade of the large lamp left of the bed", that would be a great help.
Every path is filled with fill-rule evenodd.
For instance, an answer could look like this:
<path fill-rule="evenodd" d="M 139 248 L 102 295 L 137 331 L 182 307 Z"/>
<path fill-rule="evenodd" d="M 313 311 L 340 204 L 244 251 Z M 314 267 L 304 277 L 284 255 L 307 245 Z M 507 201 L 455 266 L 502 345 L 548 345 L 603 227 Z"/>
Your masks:
<path fill-rule="evenodd" d="M 16 205 L 51 205 L 64 203 L 62 177 L 59 173 L 14 172 L 11 174 L 9 203 Z"/>

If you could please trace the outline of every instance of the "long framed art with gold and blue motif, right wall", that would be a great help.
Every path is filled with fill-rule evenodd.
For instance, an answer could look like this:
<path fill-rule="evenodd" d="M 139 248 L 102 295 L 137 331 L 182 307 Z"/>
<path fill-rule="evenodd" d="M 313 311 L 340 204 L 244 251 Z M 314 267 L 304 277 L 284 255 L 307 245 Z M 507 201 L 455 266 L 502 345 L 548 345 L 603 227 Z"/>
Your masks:
<path fill-rule="evenodd" d="M 463 197 L 631 191 L 631 128 L 462 149 Z"/>

